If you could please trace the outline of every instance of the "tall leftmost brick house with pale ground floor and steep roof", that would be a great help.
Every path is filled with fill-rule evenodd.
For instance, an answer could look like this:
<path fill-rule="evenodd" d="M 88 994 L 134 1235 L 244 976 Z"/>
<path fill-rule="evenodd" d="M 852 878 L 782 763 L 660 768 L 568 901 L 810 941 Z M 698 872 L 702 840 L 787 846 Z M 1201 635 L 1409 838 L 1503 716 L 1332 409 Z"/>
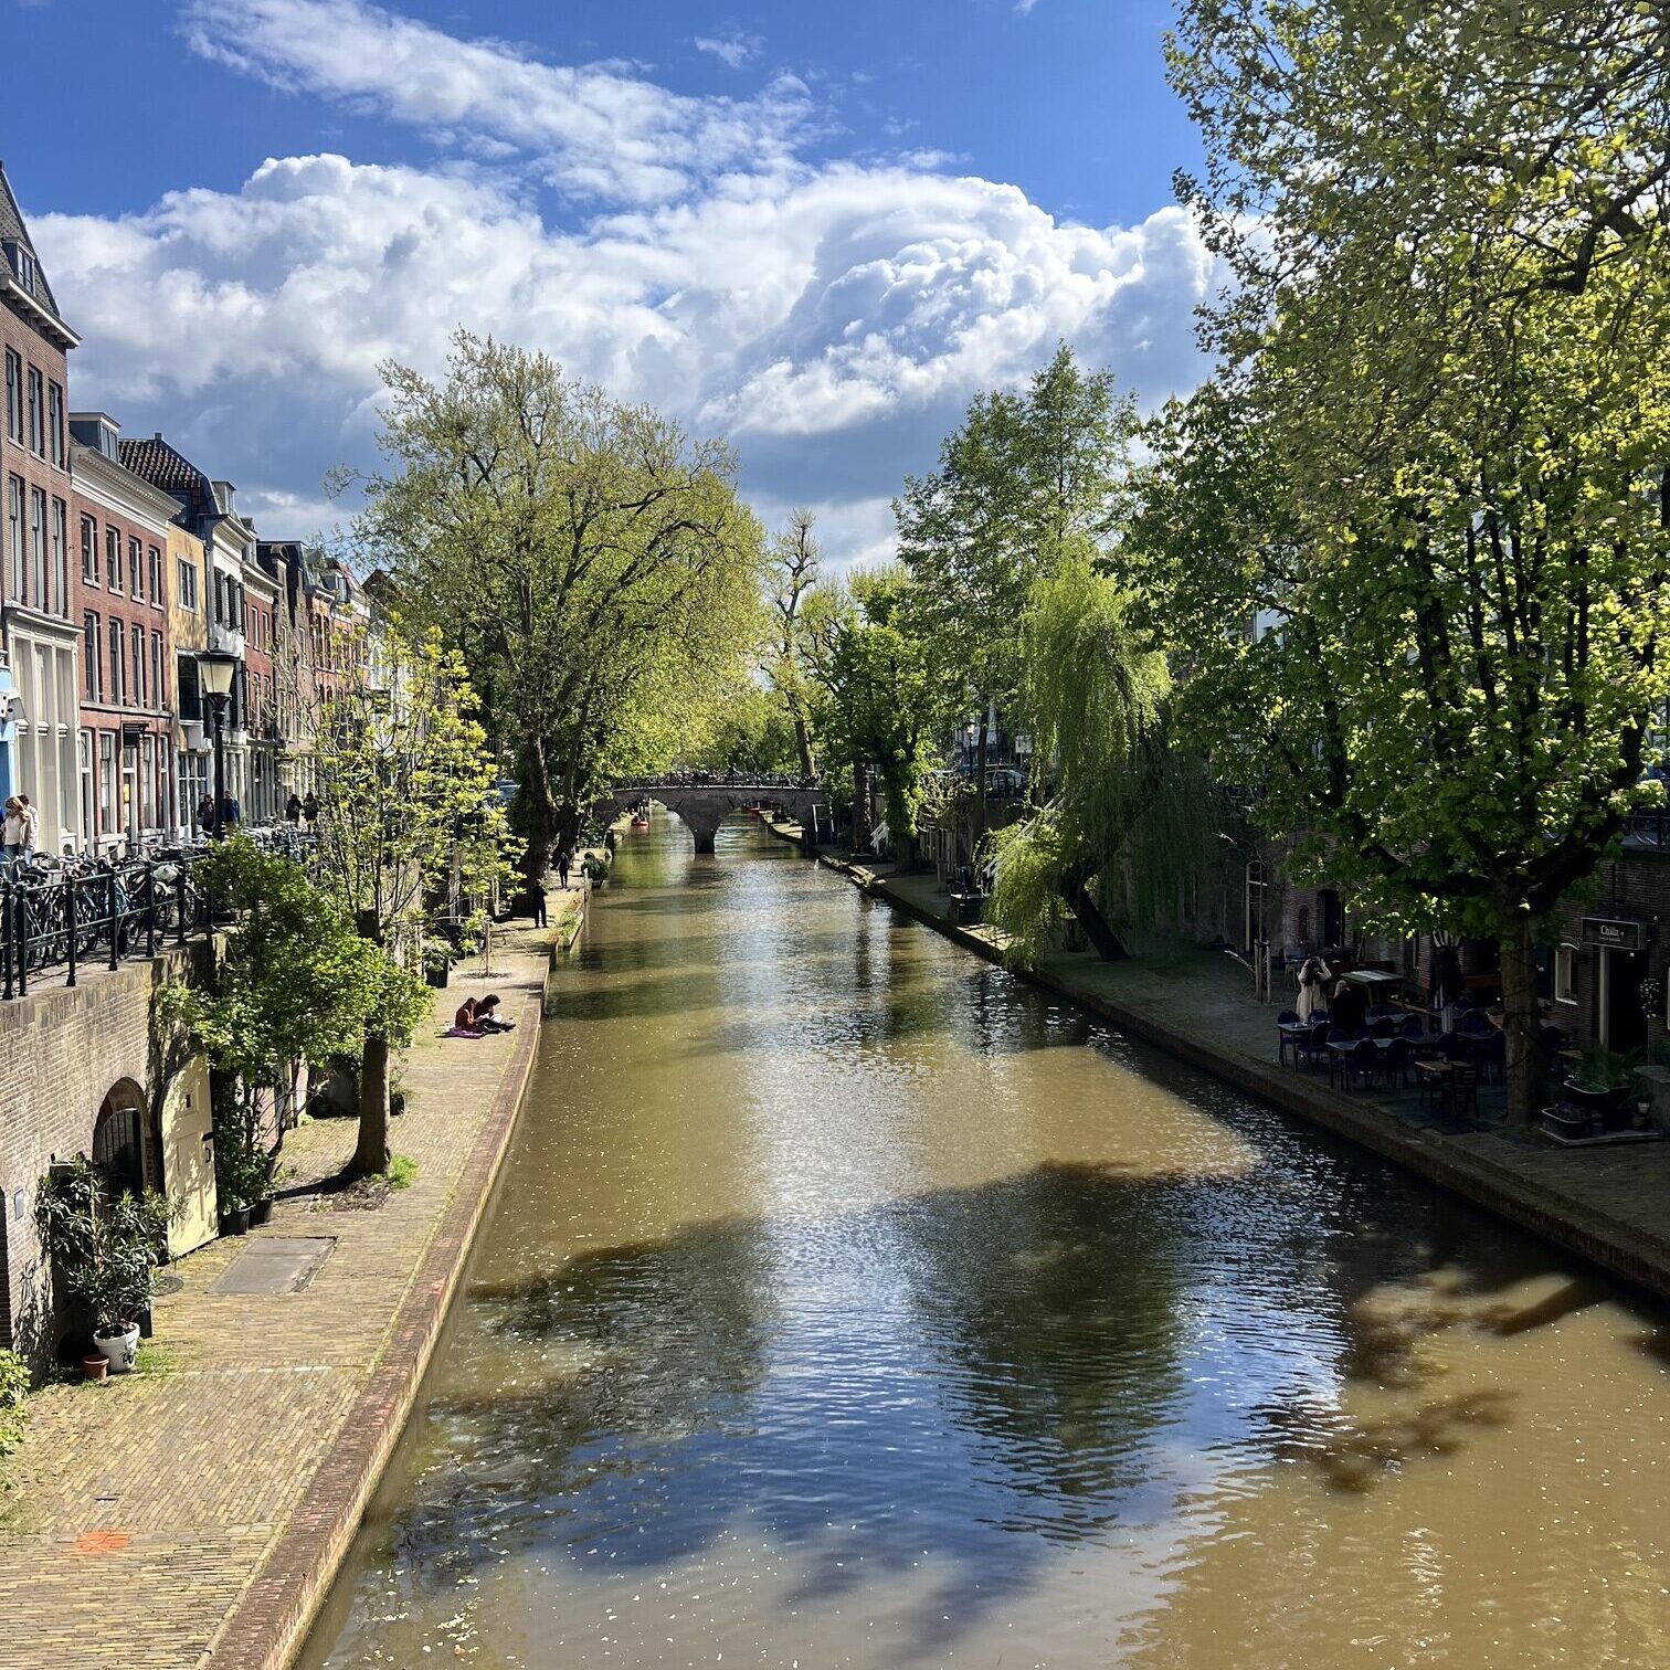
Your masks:
<path fill-rule="evenodd" d="M 0 167 L 0 798 L 30 797 L 48 852 L 65 852 L 78 837 L 65 394 L 75 344 Z"/>

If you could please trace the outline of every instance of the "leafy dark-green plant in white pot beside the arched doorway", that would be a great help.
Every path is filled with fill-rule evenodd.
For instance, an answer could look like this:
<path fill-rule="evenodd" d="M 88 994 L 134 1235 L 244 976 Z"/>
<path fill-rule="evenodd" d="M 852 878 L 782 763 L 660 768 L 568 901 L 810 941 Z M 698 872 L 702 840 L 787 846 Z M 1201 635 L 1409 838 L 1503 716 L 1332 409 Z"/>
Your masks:
<path fill-rule="evenodd" d="M 150 1309 L 169 1207 L 147 1189 L 112 1194 L 85 1159 L 57 1167 L 35 1194 L 35 1227 L 53 1273 L 92 1318 L 94 1346 L 125 1374 L 139 1354 L 139 1319 Z"/>

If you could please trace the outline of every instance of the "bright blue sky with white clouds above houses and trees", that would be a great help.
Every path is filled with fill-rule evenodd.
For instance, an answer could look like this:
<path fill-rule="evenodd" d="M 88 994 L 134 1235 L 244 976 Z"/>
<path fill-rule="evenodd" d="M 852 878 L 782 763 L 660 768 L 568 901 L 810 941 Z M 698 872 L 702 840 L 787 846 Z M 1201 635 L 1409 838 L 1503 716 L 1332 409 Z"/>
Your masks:
<path fill-rule="evenodd" d="M 1214 282 L 1151 0 L 0 0 L 0 155 L 85 346 L 264 533 L 463 324 L 728 433 L 770 521 L 887 499 L 1057 339 L 1152 401 Z M 65 87 L 73 90 L 68 107 Z"/>

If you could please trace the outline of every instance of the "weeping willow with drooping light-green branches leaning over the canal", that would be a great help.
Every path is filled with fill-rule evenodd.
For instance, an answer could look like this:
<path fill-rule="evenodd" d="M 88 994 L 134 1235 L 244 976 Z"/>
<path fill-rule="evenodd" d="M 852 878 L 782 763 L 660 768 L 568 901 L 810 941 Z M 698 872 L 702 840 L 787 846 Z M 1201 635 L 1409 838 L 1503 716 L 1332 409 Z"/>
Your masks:
<path fill-rule="evenodd" d="M 1121 586 L 1069 554 L 1030 596 L 1020 711 L 1039 810 L 989 840 L 992 918 L 1032 964 L 1070 915 L 1097 954 L 1126 954 L 1116 922 L 1154 920 L 1212 853 L 1197 757 L 1171 743 L 1172 676 Z"/>

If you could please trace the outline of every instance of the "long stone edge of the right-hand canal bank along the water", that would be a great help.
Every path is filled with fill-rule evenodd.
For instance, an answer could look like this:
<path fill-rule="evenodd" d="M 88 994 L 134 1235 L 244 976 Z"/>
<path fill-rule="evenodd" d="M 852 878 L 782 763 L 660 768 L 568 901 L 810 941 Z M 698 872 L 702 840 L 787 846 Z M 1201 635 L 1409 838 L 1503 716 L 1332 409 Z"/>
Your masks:
<path fill-rule="evenodd" d="M 800 840 L 800 830 L 795 825 L 762 822 L 782 840 Z M 925 910 L 917 900 L 890 887 L 887 877 L 830 853 L 822 853 L 818 862 L 845 875 L 872 897 L 885 900 L 903 915 L 942 934 L 964 950 L 970 950 L 987 962 L 1002 964 L 999 945 L 937 912 Z M 1346 1137 L 1381 1159 L 1448 1189 L 1470 1204 L 1480 1206 L 1566 1252 L 1575 1252 L 1608 1276 L 1643 1288 L 1660 1299 L 1670 1299 L 1670 1239 L 1647 1234 L 1560 1191 L 1541 1187 L 1518 1172 L 1458 1147 L 1438 1132 L 1396 1124 L 1388 1116 L 1366 1109 L 1324 1086 L 1301 1079 L 1274 1062 L 1258 1060 L 1212 1039 L 1166 1025 L 1137 1009 L 1111 1002 L 1097 992 L 1077 989 L 1049 970 L 1015 972 L 1029 984 L 1074 1004 L 1086 1014 L 1107 1020 L 1122 1032 L 1154 1044 L 1194 1067 L 1202 1067 L 1236 1089 L 1273 1102 L 1284 1112 Z"/>

